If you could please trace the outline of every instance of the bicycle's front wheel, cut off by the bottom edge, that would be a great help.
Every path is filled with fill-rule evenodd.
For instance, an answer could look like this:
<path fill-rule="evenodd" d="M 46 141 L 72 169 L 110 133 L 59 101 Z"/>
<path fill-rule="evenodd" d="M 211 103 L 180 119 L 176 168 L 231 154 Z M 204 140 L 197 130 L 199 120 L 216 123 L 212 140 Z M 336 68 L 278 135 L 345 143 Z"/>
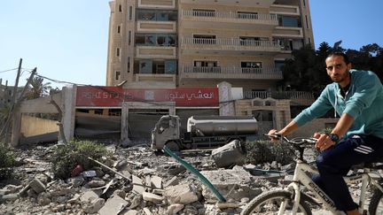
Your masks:
<path fill-rule="evenodd" d="M 241 215 L 277 214 L 281 210 L 282 203 L 285 203 L 285 209 L 282 209 L 280 214 L 290 214 L 293 210 L 293 193 L 283 189 L 272 190 L 256 196 L 246 205 Z M 311 215 L 309 205 L 301 200 L 297 214 Z"/>

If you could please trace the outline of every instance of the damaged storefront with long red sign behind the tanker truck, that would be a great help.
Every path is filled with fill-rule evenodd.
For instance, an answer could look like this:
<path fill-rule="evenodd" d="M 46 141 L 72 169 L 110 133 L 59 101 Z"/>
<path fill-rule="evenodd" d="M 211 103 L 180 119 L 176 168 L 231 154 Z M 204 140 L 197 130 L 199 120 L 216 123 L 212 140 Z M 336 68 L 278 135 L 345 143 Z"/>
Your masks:
<path fill-rule="evenodd" d="M 183 120 L 193 115 L 219 115 L 218 88 L 76 89 L 74 137 L 79 139 L 149 140 L 163 115 Z"/>

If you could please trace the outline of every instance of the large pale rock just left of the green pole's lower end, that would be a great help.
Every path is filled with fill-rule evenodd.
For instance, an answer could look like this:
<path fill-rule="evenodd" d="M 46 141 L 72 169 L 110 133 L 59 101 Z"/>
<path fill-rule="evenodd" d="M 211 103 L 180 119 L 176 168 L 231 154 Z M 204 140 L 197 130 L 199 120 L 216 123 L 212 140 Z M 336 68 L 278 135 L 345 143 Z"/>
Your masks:
<path fill-rule="evenodd" d="M 164 196 L 168 198 L 169 203 L 192 203 L 197 201 L 198 195 L 191 185 L 180 184 L 165 189 Z"/>

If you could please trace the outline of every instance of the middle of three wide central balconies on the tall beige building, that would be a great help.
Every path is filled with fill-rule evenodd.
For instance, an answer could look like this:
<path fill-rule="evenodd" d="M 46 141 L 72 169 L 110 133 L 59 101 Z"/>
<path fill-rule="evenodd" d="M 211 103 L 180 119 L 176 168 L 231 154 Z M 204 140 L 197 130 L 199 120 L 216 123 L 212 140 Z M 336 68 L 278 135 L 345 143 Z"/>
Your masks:
<path fill-rule="evenodd" d="M 277 41 L 246 41 L 239 38 L 181 38 L 181 49 L 184 54 L 213 54 L 213 55 L 248 55 L 262 53 L 267 55 L 281 51 Z M 266 53 L 265 53 L 266 52 Z"/>

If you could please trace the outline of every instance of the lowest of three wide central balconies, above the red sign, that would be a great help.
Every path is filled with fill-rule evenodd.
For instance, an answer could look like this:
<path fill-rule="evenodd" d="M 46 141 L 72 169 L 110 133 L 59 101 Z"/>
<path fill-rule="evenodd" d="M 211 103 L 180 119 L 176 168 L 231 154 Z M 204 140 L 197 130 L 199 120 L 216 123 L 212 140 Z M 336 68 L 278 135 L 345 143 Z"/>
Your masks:
<path fill-rule="evenodd" d="M 181 79 L 237 79 L 237 80 L 282 80 L 281 71 L 276 68 L 241 68 L 234 66 L 184 66 Z"/>

